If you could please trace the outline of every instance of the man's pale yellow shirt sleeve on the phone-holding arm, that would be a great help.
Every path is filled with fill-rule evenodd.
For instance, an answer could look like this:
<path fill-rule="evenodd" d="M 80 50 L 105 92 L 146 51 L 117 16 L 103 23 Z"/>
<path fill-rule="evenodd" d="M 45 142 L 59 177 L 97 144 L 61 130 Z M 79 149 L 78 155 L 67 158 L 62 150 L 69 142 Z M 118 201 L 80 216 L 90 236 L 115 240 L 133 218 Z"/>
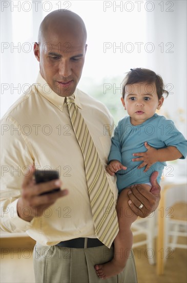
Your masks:
<path fill-rule="evenodd" d="M 1 121 L 1 228 L 7 232 L 26 232 L 32 221 L 17 214 L 17 201 L 24 176 L 33 164 L 31 147 L 20 125 L 12 117 Z M 24 213 L 24 211 L 22 211 Z M 25 212 L 29 213 L 28 209 Z"/>

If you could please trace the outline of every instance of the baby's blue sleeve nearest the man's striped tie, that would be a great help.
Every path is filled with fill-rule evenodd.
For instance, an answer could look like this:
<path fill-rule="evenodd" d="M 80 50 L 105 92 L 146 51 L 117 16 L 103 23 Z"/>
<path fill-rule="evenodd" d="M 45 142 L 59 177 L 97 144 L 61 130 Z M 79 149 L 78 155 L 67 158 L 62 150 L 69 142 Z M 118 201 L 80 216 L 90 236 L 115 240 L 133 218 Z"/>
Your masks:
<path fill-rule="evenodd" d="M 121 145 L 120 145 L 120 122 L 114 131 L 114 136 L 112 137 L 112 145 L 108 157 L 108 162 L 112 160 L 118 160 L 121 162 Z"/>

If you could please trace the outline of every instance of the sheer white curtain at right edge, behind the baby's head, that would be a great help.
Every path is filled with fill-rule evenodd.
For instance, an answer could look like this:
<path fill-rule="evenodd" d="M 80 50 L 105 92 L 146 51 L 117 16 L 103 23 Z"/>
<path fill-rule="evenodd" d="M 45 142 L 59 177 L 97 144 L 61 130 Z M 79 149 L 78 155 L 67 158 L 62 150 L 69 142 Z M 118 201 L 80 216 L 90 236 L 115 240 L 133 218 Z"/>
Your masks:
<path fill-rule="evenodd" d="M 154 10 L 147 13 L 147 41 L 155 51 L 147 53 L 147 66 L 168 86 L 161 114 L 186 135 L 186 1 L 153 2 Z"/>

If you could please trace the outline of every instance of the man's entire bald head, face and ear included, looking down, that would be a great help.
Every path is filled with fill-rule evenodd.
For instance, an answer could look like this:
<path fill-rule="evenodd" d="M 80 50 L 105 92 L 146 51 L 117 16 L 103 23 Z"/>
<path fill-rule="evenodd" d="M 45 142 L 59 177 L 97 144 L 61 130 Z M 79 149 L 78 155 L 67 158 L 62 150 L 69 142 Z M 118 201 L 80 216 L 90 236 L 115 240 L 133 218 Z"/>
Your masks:
<path fill-rule="evenodd" d="M 59 96 L 69 96 L 76 89 L 85 63 L 86 40 L 84 22 L 71 11 L 53 11 L 41 22 L 34 55 L 41 76 Z"/>

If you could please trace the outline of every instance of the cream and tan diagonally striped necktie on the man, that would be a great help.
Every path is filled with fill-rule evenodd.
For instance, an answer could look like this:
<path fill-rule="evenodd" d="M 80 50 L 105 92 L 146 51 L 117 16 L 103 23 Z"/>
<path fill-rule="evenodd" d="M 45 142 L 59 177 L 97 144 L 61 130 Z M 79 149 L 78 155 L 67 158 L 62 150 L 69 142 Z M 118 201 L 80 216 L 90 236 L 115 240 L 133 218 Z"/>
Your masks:
<path fill-rule="evenodd" d="M 65 101 L 67 102 L 73 130 L 85 161 L 86 180 L 96 237 L 103 244 L 110 247 L 118 233 L 114 196 L 88 127 L 74 99 L 74 95 L 71 95 L 66 97 Z"/>

